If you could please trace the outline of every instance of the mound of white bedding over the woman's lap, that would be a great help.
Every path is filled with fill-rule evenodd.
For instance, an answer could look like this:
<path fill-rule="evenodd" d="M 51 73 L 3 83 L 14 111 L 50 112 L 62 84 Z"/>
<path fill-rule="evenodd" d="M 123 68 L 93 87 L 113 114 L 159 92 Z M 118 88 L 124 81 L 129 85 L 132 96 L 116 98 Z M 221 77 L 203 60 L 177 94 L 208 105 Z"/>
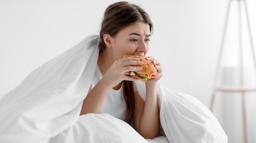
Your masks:
<path fill-rule="evenodd" d="M 49 143 L 169 143 L 165 136 L 145 140 L 129 124 L 109 114 L 86 114 Z"/>

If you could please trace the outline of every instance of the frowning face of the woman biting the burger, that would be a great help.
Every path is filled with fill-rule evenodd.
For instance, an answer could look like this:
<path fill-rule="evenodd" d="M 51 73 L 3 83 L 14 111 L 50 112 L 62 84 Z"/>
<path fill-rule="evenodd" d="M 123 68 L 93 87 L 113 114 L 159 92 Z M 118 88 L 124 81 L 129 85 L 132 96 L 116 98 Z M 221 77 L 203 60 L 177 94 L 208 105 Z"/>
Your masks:
<path fill-rule="evenodd" d="M 145 56 L 150 41 L 149 24 L 138 22 L 119 31 L 112 39 L 112 56 L 114 60 L 125 54 Z"/>

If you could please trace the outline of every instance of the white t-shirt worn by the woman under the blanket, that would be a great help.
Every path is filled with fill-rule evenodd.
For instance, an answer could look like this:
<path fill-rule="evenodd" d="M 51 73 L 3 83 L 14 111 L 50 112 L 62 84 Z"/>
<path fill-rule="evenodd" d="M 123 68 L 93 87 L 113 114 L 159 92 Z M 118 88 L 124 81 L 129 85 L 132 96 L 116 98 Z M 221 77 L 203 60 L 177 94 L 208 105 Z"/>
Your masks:
<path fill-rule="evenodd" d="M 103 77 L 102 73 L 99 70 L 98 65 L 96 66 L 95 75 L 89 89 L 89 92 L 95 87 L 95 85 L 99 82 L 99 80 Z M 134 84 L 135 85 L 135 84 Z M 135 86 L 135 91 L 137 91 L 137 87 Z M 118 119 L 125 120 L 126 118 L 126 103 L 123 97 L 123 87 L 119 90 L 110 89 L 104 103 L 102 104 L 98 114 L 107 113 L 111 116 L 114 116 Z"/>

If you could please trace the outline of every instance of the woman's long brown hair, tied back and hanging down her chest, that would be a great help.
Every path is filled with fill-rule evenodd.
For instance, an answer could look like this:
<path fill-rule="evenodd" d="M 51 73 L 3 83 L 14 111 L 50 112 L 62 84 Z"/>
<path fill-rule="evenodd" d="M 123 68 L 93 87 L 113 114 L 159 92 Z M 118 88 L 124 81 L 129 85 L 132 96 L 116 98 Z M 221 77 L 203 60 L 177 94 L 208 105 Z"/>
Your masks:
<path fill-rule="evenodd" d="M 149 15 L 144 9 L 128 2 L 117 2 L 109 5 L 105 10 L 104 17 L 101 23 L 101 29 L 99 34 L 100 42 L 98 46 L 100 52 L 102 52 L 102 50 L 106 48 L 103 34 L 109 34 L 112 38 L 115 38 L 120 30 L 137 22 L 148 23 L 152 35 L 153 23 L 151 22 Z M 122 82 L 122 85 L 123 95 L 128 112 L 127 123 L 131 124 L 135 110 L 134 86 L 132 81 L 126 80 Z"/>

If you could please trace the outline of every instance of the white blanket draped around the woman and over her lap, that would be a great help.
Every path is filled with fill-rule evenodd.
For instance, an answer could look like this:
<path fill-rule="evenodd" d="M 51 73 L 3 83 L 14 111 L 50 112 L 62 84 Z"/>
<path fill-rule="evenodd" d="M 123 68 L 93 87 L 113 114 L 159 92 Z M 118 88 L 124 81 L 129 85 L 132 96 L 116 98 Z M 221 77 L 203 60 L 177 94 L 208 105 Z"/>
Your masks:
<path fill-rule="evenodd" d="M 33 70 L 0 99 L 0 142 L 170 142 L 226 143 L 213 114 L 192 96 L 158 84 L 162 132 L 145 140 L 124 121 L 108 114 L 79 117 L 96 69 L 99 38 L 81 42 Z M 145 99 L 145 84 L 136 82 Z M 165 137 L 166 136 L 166 137 Z"/>

